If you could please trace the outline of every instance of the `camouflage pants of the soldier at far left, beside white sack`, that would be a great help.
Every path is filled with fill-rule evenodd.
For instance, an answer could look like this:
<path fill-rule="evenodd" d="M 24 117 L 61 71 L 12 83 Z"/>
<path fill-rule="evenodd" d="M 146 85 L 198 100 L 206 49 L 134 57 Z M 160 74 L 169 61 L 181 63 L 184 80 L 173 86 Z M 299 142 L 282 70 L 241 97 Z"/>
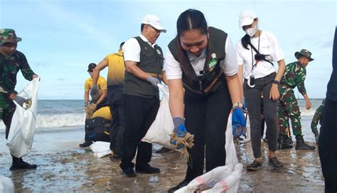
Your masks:
<path fill-rule="evenodd" d="M 0 118 L 6 126 L 6 138 L 9 136 L 9 128 L 11 127 L 11 118 L 14 115 L 16 106 L 14 102 L 7 96 L 0 95 Z"/>

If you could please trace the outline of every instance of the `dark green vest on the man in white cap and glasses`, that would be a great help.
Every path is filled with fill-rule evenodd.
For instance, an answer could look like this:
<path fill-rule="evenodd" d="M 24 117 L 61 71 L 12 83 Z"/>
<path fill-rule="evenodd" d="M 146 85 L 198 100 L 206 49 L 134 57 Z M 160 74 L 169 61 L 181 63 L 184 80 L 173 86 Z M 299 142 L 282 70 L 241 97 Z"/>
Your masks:
<path fill-rule="evenodd" d="M 139 36 L 136 37 L 136 40 L 141 48 L 140 62 L 137 63 L 137 67 L 146 73 L 151 73 L 157 75 L 156 77 L 160 77 L 164 64 L 163 51 L 159 45 L 155 45 L 154 48 L 152 48 L 149 43 L 141 40 Z M 123 93 L 148 98 L 156 96 L 159 98 L 159 89 L 154 88 L 150 82 L 135 77 L 127 71 L 125 71 Z"/>

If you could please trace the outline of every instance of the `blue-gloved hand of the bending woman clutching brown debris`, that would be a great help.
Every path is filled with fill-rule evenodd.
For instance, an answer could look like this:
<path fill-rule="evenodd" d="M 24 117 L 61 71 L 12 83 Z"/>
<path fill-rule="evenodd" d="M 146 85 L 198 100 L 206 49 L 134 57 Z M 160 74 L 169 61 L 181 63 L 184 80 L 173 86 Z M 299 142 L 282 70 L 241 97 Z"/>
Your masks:
<path fill-rule="evenodd" d="M 181 149 L 181 154 L 187 154 L 187 148 L 192 148 L 194 143 L 194 135 L 188 133 L 185 126 L 185 120 L 182 117 L 173 118 L 174 130 L 170 135 L 170 143 Z"/>

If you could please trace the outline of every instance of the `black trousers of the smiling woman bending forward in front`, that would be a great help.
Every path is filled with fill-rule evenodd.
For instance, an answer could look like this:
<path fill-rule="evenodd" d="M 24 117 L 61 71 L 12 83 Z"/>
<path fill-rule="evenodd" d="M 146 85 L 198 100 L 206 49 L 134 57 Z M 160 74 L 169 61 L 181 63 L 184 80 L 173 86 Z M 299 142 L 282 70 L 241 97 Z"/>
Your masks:
<path fill-rule="evenodd" d="M 186 128 L 194 135 L 194 146 L 188 149 L 191 163 L 188 163 L 186 181 L 203 175 L 204 160 L 206 172 L 225 165 L 225 132 L 231 108 L 227 86 L 205 98 L 185 94 Z"/>

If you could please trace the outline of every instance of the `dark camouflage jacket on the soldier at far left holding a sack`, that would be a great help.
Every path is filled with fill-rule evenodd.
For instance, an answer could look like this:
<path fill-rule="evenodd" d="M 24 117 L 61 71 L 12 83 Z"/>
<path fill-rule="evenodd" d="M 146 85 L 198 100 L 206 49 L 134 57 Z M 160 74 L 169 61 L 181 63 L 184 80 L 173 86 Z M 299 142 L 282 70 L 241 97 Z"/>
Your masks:
<path fill-rule="evenodd" d="M 31 80 L 35 74 L 23 53 L 16 50 L 11 57 L 0 53 L 0 94 L 6 96 L 12 93 L 17 94 L 15 86 L 18 70 L 21 70 L 23 77 L 28 80 Z"/>

